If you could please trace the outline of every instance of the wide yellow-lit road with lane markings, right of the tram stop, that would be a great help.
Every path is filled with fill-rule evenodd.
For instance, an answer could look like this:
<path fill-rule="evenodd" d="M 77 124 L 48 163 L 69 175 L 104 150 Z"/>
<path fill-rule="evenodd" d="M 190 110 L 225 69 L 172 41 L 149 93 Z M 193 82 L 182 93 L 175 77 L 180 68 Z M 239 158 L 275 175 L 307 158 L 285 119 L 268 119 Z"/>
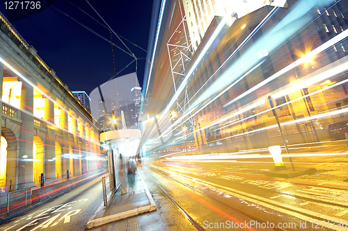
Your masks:
<path fill-rule="evenodd" d="M 219 224 L 226 221 L 273 223 L 268 230 L 347 230 L 347 160 L 346 155 L 298 157 L 296 166 L 319 171 L 288 179 L 265 176 L 274 164 L 252 159 L 157 160 L 144 170 L 206 230 L 214 230 L 214 225 L 223 230 Z M 328 172 L 331 175 L 321 175 Z M 255 225 L 248 228 L 260 230 Z"/>

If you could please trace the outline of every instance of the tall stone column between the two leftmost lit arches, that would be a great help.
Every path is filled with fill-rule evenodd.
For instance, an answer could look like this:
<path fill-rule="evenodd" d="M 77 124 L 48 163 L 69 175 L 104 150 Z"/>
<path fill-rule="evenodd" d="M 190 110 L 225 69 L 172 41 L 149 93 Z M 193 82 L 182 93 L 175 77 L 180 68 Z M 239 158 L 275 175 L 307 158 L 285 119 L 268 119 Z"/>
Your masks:
<path fill-rule="evenodd" d="M 24 80 L 22 80 L 20 108 L 24 112 L 21 118 L 17 189 L 24 189 L 35 187 L 33 182 L 33 87 Z"/>

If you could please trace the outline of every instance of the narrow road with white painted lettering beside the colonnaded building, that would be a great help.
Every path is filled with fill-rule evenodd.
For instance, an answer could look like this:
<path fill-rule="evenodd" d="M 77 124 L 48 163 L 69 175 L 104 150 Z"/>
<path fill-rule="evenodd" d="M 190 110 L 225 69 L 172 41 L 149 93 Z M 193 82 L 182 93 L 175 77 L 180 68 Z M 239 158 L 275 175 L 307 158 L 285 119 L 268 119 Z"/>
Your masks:
<path fill-rule="evenodd" d="M 102 176 L 1 224 L 0 230 L 84 230 L 103 201 Z"/>

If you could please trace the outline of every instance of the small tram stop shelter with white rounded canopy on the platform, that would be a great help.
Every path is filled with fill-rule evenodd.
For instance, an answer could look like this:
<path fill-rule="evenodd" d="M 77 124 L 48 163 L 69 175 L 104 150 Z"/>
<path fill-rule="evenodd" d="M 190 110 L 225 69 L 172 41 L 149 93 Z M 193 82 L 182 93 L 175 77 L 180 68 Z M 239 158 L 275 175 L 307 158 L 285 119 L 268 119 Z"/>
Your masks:
<path fill-rule="evenodd" d="M 100 143 L 108 150 L 109 173 L 113 175 L 115 191 L 127 193 L 127 162 L 134 157 L 141 139 L 141 130 L 111 130 L 100 134 Z M 110 185 L 110 188 L 112 186 Z"/>

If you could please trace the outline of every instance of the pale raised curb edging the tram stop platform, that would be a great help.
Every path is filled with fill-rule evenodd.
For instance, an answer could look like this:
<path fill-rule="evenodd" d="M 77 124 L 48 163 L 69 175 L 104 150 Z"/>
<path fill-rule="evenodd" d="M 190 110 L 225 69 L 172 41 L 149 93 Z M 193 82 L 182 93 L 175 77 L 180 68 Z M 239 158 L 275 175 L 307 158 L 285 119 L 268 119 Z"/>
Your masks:
<path fill-rule="evenodd" d="M 95 211 L 93 216 L 91 216 L 90 220 L 86 223 L 86 228 L 88 228 L 88 229 L 95 228 L 95 227 L 100 226 L 100 225 L 105 225 L 107 223 L 112 223 L 112 222 L 119 221 L 122 219 L 127 219 L 131 216 L 137 216 L 137 215 L 143 214 L 145 212 L 151 212 L 151 211 L 156 210 L 157 205 L 155 204 L 155 201 L 153 200 L 153 198 L 150 194 L 150 191 L 146 187 L 145 182 L 144 182 L 143 178 L 141 177 L 141 174 L 139 174 L 139 177 L 140 177 L 141 183 L 143 184 L 143 187 L 145 189 L 146 196 L 148 196 L 148 199 L 150 201 L 150 205 L 145 205 L 145 206 L 139 207 L 137 209 L 131 209 L 131 210 L 128 210 L 125 212 L 119 212 L 118 214 L 105 216 L 105 217 L 102 217 L 100 219 L 95 219 L 95 216 L 97 216 L 97 214 L 100 211 L 102 211 L 103 209 L 106 209 L 104 207 L 104 202 L 102 202 L 102 204 L 98 207 L 97 211 Z"/>

